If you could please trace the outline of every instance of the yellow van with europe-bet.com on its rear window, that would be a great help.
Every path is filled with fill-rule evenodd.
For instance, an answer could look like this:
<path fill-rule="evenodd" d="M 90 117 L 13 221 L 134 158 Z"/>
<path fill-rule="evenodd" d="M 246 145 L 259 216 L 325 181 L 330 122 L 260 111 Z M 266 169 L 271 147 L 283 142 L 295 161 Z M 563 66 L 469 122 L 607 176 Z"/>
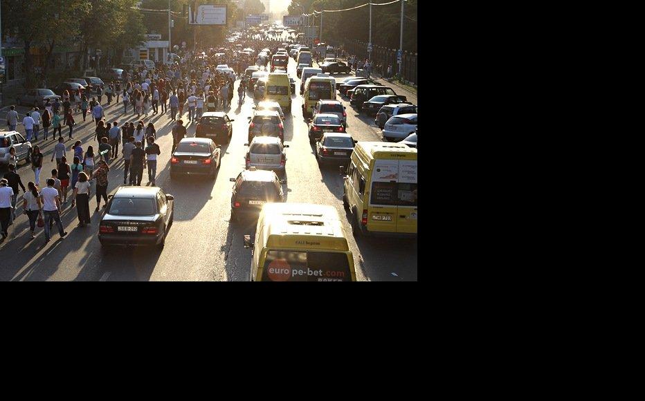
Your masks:
<path fill-rule="evenodd" d="M 265 203 L 257 219 L 251 281 L 356 281 L 354 256 L 336 208 Z"/>

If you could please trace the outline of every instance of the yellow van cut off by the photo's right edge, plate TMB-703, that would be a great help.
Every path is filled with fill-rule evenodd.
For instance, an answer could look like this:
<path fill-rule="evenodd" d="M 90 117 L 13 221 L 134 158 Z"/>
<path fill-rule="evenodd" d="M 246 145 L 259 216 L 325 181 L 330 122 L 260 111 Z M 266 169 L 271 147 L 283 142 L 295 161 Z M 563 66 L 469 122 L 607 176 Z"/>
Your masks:
<path fill-rule="evenodd" d="M 340 175 L 355 236 L 417 235 L 417 149 L 359 141 Z"/>

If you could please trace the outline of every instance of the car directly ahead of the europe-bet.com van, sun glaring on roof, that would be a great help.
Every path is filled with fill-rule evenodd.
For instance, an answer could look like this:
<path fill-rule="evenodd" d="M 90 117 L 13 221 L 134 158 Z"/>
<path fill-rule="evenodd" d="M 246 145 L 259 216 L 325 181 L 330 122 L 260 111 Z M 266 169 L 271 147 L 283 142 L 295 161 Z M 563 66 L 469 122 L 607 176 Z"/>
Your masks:
<path fill-rule="evenodd" d="M 257 218 L 264 203 L 286 200 L 281 184 L 287 181 L 280 180 L 274 171 L 251 167 L 230 180 L 235 183 L 230 197 L 231 221 L 239 221 L 243 216 Z"/>

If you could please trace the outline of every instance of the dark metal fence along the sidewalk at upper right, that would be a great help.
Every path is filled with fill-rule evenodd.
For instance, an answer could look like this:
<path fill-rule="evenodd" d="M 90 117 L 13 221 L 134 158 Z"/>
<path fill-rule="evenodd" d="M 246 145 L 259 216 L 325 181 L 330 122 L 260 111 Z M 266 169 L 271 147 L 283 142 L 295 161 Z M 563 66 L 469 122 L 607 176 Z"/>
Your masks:
<path fill-rule="evenodd" d="M 344 50 L 349 55 L 355 55 L 360 60 L 367 59 L 367 43 L 353 40 L 346 41 Z M 373 46 L 372 48 L 372 71 L 386 78 L 394 77 L 399 73 L 399 64 L 397 63 L 397 49 L 386 48 L 383 46 Z M 417 53 L 404 51 L 401 57 L 401 80 L 406 84 L 417 85 Z M 388 66 L 392 66 L 392 74 L 388 76 Z"/>

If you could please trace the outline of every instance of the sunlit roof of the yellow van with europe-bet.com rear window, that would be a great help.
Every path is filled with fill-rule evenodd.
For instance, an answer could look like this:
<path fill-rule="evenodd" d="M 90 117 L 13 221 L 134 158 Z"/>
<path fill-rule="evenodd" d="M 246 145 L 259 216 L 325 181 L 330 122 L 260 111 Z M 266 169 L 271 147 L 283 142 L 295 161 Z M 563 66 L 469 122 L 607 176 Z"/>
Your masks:
<path fill-rule="evenodd" d="M 293 246 L 294 236 L 309 236 L 325 241 L 302 245 L 349 250 L 336 207 L 310 203 L 266 203 L 262 214 L 267 246 Z"/>

